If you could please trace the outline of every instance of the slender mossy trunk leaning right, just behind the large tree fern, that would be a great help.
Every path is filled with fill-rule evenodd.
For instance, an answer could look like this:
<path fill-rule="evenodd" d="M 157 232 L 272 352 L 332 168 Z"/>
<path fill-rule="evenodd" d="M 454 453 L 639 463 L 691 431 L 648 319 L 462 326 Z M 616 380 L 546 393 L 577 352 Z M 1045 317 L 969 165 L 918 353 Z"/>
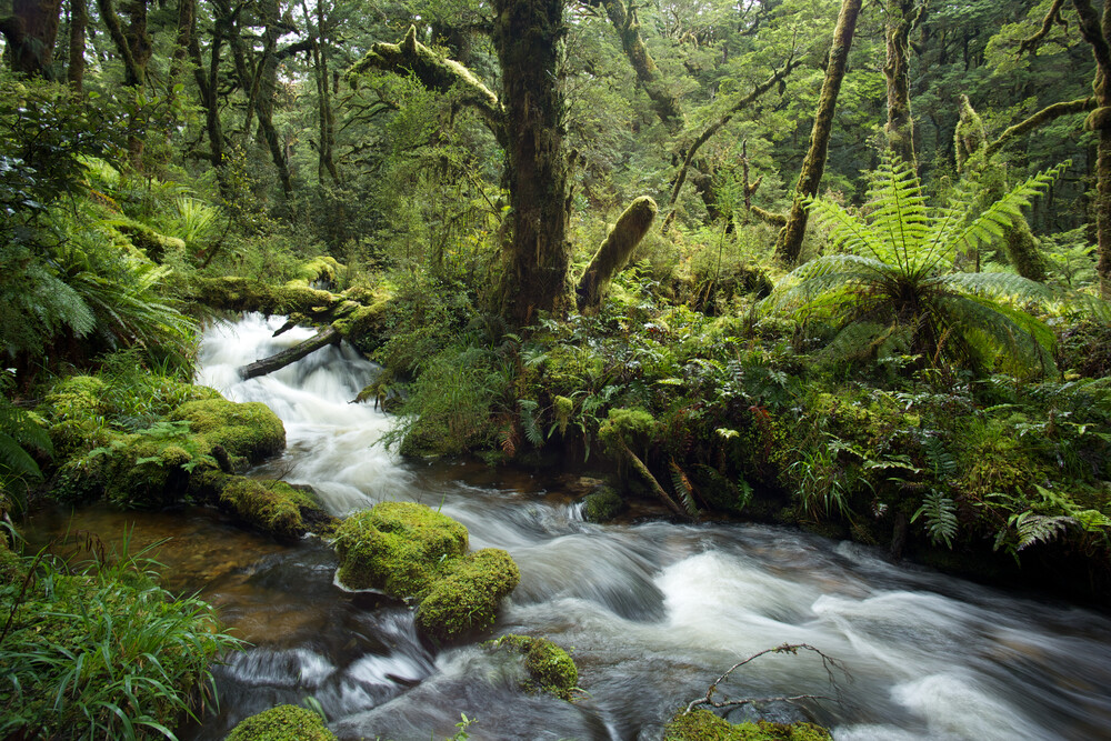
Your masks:
<path fill-rule="evenodd" d="M 833 112 L 837 110 L 838 94 L 841 92 L 841 81 L 849 62 L 849 49 L 852 48 L 852 37 L 857 30 L 857 18 L 860 16 L 861 0 L 843 0 L 841 12 L 833 29 L 833 47 L 830 49 L 829 64 L 825 67 L 825 81 L 822 82 L 822 93 L 814 112 L 814 128 L 810 132 L 810 149 L 802 161 L 799 182 L 794 187 L 794 202 L 787 218 L 787 226 L 779 232 L 775 240 L 775 257 L 785 266 L 793 266 L 802 251 L 802 237 L 807 233 L 807 209 L 803 201 L 818 194 L 818 186 L 825 171 L 825 158 L 829 153 L 830 134 L 833 132 Z"/>

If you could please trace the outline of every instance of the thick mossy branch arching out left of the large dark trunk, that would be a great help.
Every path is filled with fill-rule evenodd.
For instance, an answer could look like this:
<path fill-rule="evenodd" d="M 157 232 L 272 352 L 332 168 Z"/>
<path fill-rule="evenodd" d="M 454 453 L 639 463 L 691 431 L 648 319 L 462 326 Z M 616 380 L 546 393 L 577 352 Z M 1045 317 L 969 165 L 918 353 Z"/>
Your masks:
<path fill-rule="evenodd" d="M 411 72 L 429 90 L 461 92 L 460 101 L 478 110 L 498 141 L 504 141 L 506 109 L 498 100 L 498 96 L 469 69 L 418 41 L 417 27 L 409 27 L 401 43 L 379 42 L 372 46 L 370 51 L 348 70 L 347 80 L 354 88 L 358 86 L 359 76 L 372 69 L 397 74 Z"/>

